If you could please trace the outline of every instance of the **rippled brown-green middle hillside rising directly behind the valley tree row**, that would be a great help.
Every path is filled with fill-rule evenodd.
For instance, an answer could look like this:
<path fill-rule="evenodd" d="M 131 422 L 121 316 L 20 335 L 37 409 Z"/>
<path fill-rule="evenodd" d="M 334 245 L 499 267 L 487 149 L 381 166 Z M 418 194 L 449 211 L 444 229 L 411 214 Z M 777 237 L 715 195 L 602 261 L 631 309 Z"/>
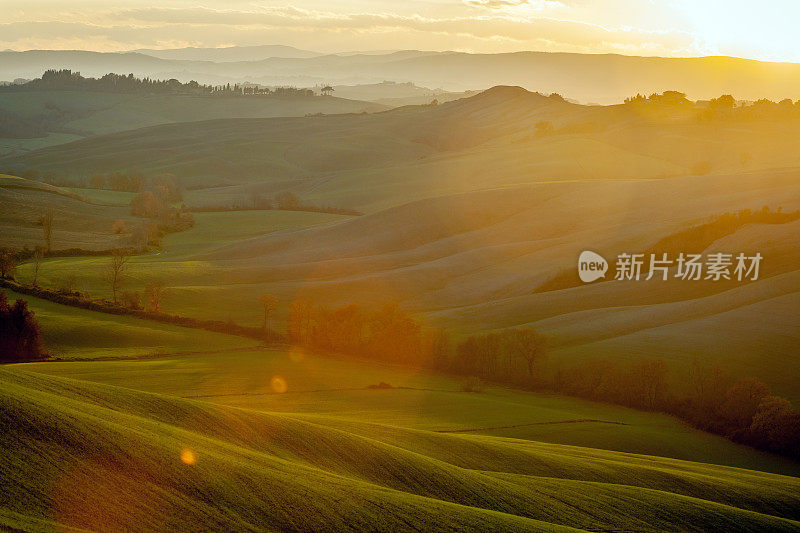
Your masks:
<path fill-rule="evenodd" d="M 679 367 L 695 357 L 719 361 L 798 401 L 797 222 L 749 225 L 708 249 L 759 251 L 767 259 L 755 283 L 672 279 L 534 292 L 553 272 L 570 268 L 587 242 L 599 243 L 591 247 L 606 257 L 641 250 L 681 228 L 679 220 L 752 205 L 748 194 L 768 205 L 800 206 L 794 179 L 792 172 L 778 172 L 616 186 L 543 184 L 436 198 L 355 218 L 199 213 L 196 227 L 167 236 L 163 251 L 134 258 L 128 288 L 161 279 L 170 287 L 169 312 L 246 325 L 260 324 L 258 296 L 274 294 L 280 300 L 273 316 L 278 329 L 297 298 L 368 306 L 396 300 L 457 334 L 532 325 L 550 337 L 554 359 L 658 356 Z M 737 187 L 726 188 L 732 180 Z M 615 196 L 641 201 L 620 213 L 595 202 Z M 692 200 L 675 204 L 671 218 L 655 222 L 650 208 L 664 197 Z M 562 224 L 565 212 L 574 214 L 568 226 Z M 80 289 L 108 297 L 107 262 L 51 259 L 40 275 L 48 285 L 74 275 Z M 29 276 L 30 266 L 21 266 L 19 277 Z M 673 379 L 680 383 L 681 376 Z"/>

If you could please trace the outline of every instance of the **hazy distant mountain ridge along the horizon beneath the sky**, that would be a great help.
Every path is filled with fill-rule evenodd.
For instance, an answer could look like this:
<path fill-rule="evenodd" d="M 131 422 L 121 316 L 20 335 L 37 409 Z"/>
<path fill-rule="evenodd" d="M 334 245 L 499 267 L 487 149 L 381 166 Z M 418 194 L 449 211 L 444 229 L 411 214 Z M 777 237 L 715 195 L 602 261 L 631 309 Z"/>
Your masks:
<path fill-rule="evenodd" d="M 305 53 L 292 50 L 284 50 L 284 55 Z M 206 53 L 208 55 L 203 56 Z M 582 102 L 601 104 L 618 103 L 636 93 L 650 94 L 669 89 L 684 91 L 692 99 L 708 99 L 729 93 L 747 100 L 800 99 L 800 64 L 732 57 L 663 58 L 549 52 L 468 54 L 405 50 L 377 55 L 358 53 L 272 56 L 256 61 L 212 60 L 219 59 L 220 54 L 228 54 L 233 59 L 251 53 L 253 50 L 248 48 L 148 53 L 5 51 L 0 52 L 0 80 L 36 78 L 48 68 L 69 68 L 84 76 L 133 73 L 207 84 L 249 81 L 310 87 L 373 84 L 388 80 L 410 81 L 446 91 L 519 85 L 531 91 L 557 92 Z M 166 59 L 148 54 L 186 59 Z M 199 57 L 209 59 L 199 60 Z"/>

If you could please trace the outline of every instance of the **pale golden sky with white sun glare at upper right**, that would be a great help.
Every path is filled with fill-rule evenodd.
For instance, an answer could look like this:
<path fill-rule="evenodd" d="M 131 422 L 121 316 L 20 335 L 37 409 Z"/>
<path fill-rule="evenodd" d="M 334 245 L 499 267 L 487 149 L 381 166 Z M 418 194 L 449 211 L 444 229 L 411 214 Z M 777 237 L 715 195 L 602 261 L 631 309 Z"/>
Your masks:
<path fill-rule="evenodd" d="M 0 0 L 0 49 L 283 44 L 800 62 L 799 0 Z"/>

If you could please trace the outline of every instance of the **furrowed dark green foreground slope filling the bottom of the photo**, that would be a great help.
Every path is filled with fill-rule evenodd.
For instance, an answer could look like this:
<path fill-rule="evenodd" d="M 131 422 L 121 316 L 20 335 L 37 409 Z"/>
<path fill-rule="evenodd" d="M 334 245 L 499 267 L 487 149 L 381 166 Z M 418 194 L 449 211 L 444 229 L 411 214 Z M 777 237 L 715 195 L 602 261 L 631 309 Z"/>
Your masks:
<path fill-rule="evenodd" d="M 796 478 L 324 424 L 18 370 L 0 370 L 0 380 L 0 507 L 20 522 L 159 531 L 800 527 Z"/>

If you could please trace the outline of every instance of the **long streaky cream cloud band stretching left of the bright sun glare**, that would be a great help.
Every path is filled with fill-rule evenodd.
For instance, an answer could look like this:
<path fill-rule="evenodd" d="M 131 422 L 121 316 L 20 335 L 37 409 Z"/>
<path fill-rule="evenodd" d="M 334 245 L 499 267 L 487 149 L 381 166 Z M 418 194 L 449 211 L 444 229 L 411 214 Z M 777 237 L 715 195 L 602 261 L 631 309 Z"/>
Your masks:
<path fill-rule="evenodd" d="M 95 12 L 71 21 L 0 24 L 0 47 L 22 49 L 220 46 L 290 44 L 320 50 L 456 49 L 498 52 L 548 50 L 690 55 L 694 38 L 676 30 L 643 30 L 549 17 L 523 17 L 489 4 L 521 0 L 470 0 L 486 9 L 464 16 L 422 16 L 394 12 L 335 13 L 294 6 L 250 9 L 149 7 Z M 531 4 L 530 1 L 525 2 Z M 536 4 L 537 2 L 533 2 Z M 519 4 L 521 5 L 521 4 Z M 79 46 L 83 39 L 86 46 Z M 33 45 L 33 46 L 32 46 Z"/>

